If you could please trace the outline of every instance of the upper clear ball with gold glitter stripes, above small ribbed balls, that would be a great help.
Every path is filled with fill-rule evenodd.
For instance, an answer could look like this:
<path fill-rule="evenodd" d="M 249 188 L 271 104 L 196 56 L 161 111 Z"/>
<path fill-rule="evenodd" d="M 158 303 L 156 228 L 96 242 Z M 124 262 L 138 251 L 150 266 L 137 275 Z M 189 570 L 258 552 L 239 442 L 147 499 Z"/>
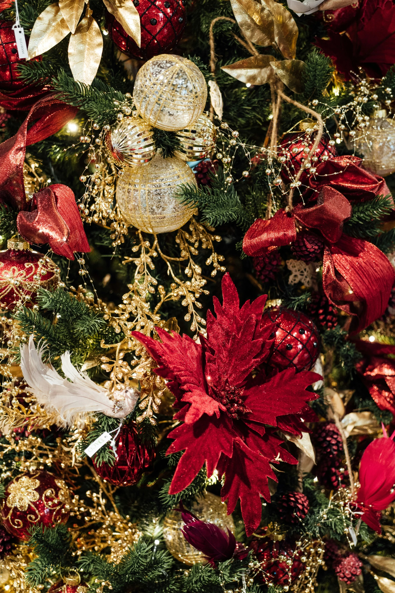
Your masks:
<path fill-rule="evenodd" d="M 182 130 L 203 113 L 207 85 L 191 60 L 162 53 L 137 72 L 133 99 L 140 116 L 152 126 Z"/>

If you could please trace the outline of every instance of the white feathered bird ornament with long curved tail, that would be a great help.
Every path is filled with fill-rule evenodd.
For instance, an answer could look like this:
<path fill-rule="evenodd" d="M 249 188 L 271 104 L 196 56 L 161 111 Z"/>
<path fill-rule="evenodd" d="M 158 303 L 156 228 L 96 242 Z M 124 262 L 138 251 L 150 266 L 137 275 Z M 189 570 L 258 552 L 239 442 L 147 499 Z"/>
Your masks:
<path fill-rule="evenodd" d="M 60 377 L 52 365 L 43 363 L 43 350 L 34 346 L 33 336 L 28 345 L 21 346 L 21 370 L 31 393 L 48 412 L 59 413 L 62 423 L 72 426 L 79 416 L 89 412 L 102 412 L 113 418 L 124 418 L 134 408 L 139 392 L 126 388 L 117 392 L 111 400 L 101 385 L 92 381 L 85 372 L 79 372 L 71 364 L 70 353 L 60 357 L 66 379 Z M 68 379 L 70 381 L 68 381 Z"/>

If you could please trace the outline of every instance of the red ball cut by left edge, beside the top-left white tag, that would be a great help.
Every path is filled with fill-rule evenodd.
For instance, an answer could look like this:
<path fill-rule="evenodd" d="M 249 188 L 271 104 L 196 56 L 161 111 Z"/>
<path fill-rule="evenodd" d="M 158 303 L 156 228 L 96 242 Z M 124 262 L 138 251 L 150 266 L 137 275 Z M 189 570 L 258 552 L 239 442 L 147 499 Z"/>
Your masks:
<path fill-rule="evenodd" d="M 13 24 L 12 21 L 0 21 L 0 89 L 2 91 L 17 91 L 28 86 L 20 78 L 17 70 L 17 65 L 26 60 L 18 56 L 15 33 L 12 31 Z M 26 44 L 28 44 L 27 38 Z M 40 60 L 41 56 L 33 59 Z"/>

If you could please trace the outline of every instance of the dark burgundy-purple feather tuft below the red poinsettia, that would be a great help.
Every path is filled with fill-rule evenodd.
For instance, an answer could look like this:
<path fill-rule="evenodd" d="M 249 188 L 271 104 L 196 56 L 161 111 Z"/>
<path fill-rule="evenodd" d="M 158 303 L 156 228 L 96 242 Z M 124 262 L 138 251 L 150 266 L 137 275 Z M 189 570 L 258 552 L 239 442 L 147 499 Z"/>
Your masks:
<path fill-rule="evenodd" d="M 179 509 L 180 510 L 180 509 Z M 182 535 L 191 546 L 204 554 L 208 563 L 215 568 L 216 562 L 232 558 L 236 550 L 236 538 L 227 528 L 227 533 L 214 523 L 200 521 L 193 513 L 182 511 L 184 528 Z"/>

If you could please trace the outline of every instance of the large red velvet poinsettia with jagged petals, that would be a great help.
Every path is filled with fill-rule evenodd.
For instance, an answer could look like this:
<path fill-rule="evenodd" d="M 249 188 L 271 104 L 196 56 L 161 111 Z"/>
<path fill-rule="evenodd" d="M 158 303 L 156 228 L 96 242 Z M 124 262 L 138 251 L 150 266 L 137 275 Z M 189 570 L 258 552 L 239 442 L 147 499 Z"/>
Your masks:
<path fill-rule="evenodd" d="M 300 424 L 307 401 L 317 398 L 306 387 L 320 376 L 286 369 L 271 377 L 264 371 L 253 377 L 251 371 L 269 355 L 273 341 L 269 335 L 274 326 L 261 327 L 266 295 L 240 309 L 228 274 L 222 280 L 222 292 L 223 305 L 214 298 L 217 317 L 208 311 L 207 339 L 200 336 L 200 344 L 159 328 L 162 342 L 138 331 L 132 334 L 158 363 L 155 372 L 168 381 L 176 397 L 174 405 L 181 408 L 175 418 L 182 424 L 169 434 L 174 442 L 168 453 L 185 452 L 169 493 L 189 486 L 204 464 L 208 476 L 217 469 L 225 476 L 221 496 L 228 499 L 228 513 L 240 498 L 250 535 L 261 521 L 259 495 L 270 500 L 268 477 L 277 481 L 271 464 L 297 463 L 275 435 L 278 417 L 282 430 L 298 432 L 295 417 Z"/>

